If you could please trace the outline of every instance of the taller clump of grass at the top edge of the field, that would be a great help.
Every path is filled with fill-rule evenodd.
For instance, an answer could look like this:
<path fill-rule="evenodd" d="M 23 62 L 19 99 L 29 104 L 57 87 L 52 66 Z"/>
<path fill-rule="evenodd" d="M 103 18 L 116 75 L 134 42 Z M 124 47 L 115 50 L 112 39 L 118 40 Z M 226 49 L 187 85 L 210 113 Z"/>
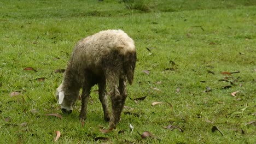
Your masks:
<path fill-rule="evenodd" d="M 151 11 L 150 1 L 147 0 L 124 0 L 123 2 L 128 9 L 135 9 L 144 12 Z"/>

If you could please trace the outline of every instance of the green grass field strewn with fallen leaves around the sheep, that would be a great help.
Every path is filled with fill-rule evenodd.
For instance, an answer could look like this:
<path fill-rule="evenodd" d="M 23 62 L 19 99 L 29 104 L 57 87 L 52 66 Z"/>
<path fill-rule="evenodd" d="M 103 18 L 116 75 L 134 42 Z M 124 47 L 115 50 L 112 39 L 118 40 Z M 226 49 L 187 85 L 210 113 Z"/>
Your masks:
<path fill-rule="evenodd" d="M 51 143 L 56 130 L 57 143 L 255 143 L 255 123 L 246 124 L 255 121 L 255 1 L 144 4 L 149 11 L 114 0 L 1 1 L 0 143 Z M 63 115 L 54 97 L 62 81 L 54 71 L 65 69 L 78 40 L 104 29 L 123 29 L 135 40 L 135 81 L 127 89 L 131 98 L 147 96 L 137 103 L 127 98 L 130 109 L 123 112 L 135 115 L 123 113 L 117 129 L 107 134 L 100 132 L 108 123 L 96 92 L 84 127 L 80 101 L 71 115 Z M 40 77 L 46 79 L 36 80 Z M 212 91 L 204 92 L 206 87 Z M 20 95 L 10 97 L 15 91 Z M 241 92 L 232 97 L 235 91 Z M 152 106 L 155 101 L 164 104 Z M 169 124 L 184 133 L 164 129 Z M 212 132 L 213 126 L 224 136 Z M 137 131 L 161 140 L 142 139 Z M 95 142 L 96 137 L 108 140 Z"/>

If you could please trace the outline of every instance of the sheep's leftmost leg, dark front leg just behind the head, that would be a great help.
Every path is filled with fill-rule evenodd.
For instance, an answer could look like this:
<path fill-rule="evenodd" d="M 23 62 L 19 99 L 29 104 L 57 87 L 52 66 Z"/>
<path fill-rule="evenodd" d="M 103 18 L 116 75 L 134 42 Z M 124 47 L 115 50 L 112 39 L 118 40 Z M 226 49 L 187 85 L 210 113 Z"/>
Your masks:
<path fill-rule="evenodd" d="M 91 87 L 83 87 L 82 107 L 81 107 L 80 116 L 79 116 L 80 121 L 83 121 L 86 118 L 87 104 L 88 104 L 88 99 L 90 97 L 90 91 L 91 91 Z"/>

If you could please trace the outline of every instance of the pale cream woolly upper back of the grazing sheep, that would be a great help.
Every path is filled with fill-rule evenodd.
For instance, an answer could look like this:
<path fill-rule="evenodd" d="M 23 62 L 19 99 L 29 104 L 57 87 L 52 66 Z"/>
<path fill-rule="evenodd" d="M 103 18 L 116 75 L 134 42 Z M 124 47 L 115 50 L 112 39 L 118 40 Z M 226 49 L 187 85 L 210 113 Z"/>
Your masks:
<path fill-rule="evenodd" d="M 102 60 L 112 61 L 110 55 L 136 52 L 134 41 L 121 30 L 101 31 L 78 42 L 72 54 L 72 62 L 77 67 L 98 70 Z"/>

